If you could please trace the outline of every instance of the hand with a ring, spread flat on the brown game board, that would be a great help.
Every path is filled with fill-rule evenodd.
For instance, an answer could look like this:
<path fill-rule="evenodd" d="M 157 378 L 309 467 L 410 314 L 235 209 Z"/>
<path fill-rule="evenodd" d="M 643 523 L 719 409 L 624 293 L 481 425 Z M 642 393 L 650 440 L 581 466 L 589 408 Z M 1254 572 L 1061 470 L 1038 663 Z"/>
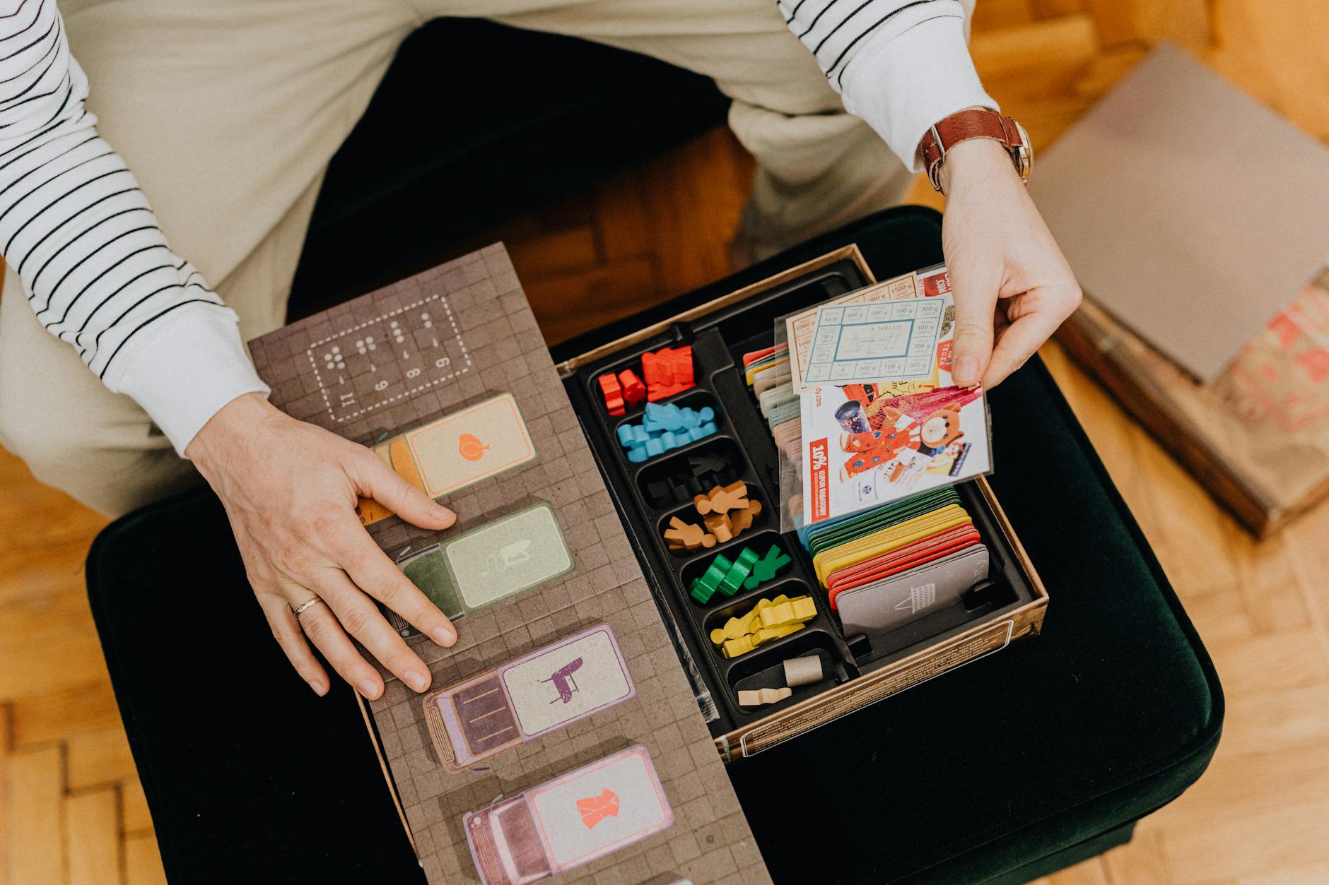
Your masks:
<path fill-rule="evenodd" d="M 328 676 L 306 637 L 361 695 L 383 694 L 383 679 L 348 633 L 405 684 L 416 691 L 429 687 L 429 668 L 379 614 L 373 599 L 441 646 L 453 644 L 457 633 L 373 543 L 355 505 L 359 496 L 371 497 L 425 529 L 452 525 L 451 510 L 389 470 L 369 449 L 296 421 L 256 393 L 214 415 L 186 456 L 226 505 L 254 595 L 310 688 L 326 694 Z M 315 595 L 323 602 L 296 621 L 294 609 Z"/>

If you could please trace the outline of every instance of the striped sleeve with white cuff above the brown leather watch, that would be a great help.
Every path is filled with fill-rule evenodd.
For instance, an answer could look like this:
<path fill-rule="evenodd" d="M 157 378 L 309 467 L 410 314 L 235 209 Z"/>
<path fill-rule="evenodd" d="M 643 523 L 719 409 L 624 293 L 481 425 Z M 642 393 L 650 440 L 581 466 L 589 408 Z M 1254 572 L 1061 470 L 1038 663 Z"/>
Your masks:
<path fill-rule="evenodd" d="M 777 0 L 845 109 L 863 117 L 914 171 L 937 121 L 997 108 L 974 70 L 956 0 Z"/>

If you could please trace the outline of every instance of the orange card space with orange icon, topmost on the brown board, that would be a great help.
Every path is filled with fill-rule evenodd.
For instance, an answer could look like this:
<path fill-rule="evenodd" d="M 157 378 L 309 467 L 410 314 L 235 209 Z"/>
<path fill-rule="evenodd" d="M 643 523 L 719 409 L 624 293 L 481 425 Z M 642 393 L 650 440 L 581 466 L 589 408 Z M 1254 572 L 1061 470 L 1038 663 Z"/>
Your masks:
<path fill-rule="evenodd" d="M 373 448 L 411 485 L 439 498 L 536 457 L 526 423 L 512 393 L 477 403 L 408 431 Z M 392 516 L 377 501 L 361 498 L 360 522 Z"/>

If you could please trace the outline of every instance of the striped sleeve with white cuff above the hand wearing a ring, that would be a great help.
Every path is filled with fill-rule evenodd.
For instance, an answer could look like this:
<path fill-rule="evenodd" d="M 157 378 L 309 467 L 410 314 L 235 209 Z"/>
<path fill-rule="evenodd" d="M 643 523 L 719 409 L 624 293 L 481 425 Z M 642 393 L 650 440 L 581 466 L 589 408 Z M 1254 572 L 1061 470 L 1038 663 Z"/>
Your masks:
<path fill-rule="evenodd" d="M 0 252 L 47 331 L 183 454 L 218 409 L 267 387 L 234 311 L 171 252 L 86 97 L 54 0 L 0 0 Z"/>

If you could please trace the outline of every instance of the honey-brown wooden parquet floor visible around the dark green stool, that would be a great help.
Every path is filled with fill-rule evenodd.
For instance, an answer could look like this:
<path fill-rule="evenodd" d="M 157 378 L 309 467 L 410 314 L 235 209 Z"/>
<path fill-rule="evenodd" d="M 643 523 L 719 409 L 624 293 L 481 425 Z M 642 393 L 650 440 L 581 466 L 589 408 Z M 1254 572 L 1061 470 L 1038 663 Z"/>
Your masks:
<path fill-rule="evenodd" d="M 1084 11 L 1107 3 L 978 3 L 979 72 L 1038 144 L 1144 50 L 1100 45 Z M 1329 142 L 1329 4 L 1213 0 L 1212 15 L 1207 61 Z M 560 340 L 726 274 L 750 173 L 712 132 L 493 238 Z M 925 183 L 916 202 L 938 205 Z M 1204 637 L 1228 719 L 1205 776 L 1134 842 L 1041 885 L 1329 882 L 1329 504 L 1253 542 L 1055 345 L 1043 357 Z M 0 452 L 0 882 L 162 881 L 84 594 L 104 521 Z"/>

